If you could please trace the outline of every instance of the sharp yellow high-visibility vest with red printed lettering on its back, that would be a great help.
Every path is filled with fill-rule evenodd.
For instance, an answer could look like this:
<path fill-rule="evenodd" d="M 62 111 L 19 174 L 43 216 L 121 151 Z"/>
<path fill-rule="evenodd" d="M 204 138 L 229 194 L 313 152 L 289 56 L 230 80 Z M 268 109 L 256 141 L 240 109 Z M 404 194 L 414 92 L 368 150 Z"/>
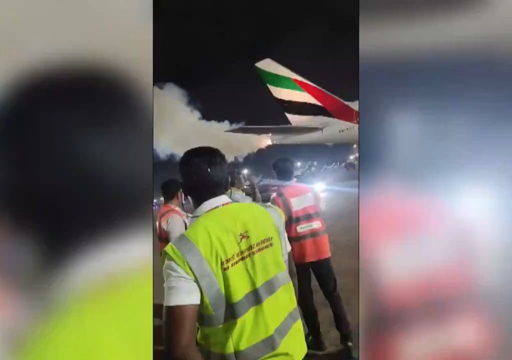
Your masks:
<path fill-rule="evenodd" d="M 201 289 L 205 359 L 302 360 L 304 329 L 283 261 L 281 210 L 230 203 L 201 215 L 164 249 Z"/>

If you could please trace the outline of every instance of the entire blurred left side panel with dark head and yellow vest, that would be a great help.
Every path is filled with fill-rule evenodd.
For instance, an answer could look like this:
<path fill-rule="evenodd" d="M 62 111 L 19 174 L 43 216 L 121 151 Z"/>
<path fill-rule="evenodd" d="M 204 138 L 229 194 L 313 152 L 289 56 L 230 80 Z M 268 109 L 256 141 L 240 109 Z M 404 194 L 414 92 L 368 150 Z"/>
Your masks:
<path fill-rule="evenodd" d="M 0 358 L 152 357 L 152 4 L 0 12 Z"/>

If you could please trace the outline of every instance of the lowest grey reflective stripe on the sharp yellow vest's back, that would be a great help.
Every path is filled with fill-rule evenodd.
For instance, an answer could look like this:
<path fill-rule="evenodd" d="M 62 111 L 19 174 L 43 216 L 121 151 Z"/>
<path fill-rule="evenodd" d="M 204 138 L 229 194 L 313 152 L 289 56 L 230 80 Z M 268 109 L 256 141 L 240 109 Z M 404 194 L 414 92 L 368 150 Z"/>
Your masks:
<path fill-rule="evenodd" d="M 293 325 L 297 321 L 301 320 L 301 315 L 298 313 L 298 309 L 295 307 L 281 324 L 275 329 L 275 331 L 262 341 L 249 346 L 248 348 L 235 351 L 228 354 L 220 354 L 211 352 L 200 347 L 201 353 L 206 360 L 255 360 L 260 359 L 279 348 L 281 342 L 286 337 L 288 332 L 291 330 Z"/>

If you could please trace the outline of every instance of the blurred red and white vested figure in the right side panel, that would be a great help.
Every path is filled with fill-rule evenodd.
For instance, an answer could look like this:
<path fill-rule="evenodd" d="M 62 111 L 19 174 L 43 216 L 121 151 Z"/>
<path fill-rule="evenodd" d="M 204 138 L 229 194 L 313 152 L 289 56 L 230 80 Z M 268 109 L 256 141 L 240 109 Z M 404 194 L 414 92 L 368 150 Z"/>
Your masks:
<path fill-rule="evenodd" d="M 361 312 L 375 319 L 365 329 L 366 358 L 495 358 L 474 224 L 403 188 L 376 186 L 361 199 Z"/>

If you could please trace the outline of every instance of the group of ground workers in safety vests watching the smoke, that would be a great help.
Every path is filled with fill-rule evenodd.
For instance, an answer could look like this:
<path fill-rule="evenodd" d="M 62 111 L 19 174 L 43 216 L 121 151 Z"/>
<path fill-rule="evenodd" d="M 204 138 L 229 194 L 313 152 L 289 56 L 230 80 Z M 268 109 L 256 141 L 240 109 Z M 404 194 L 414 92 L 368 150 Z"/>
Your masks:
<path fill-rule="evenodd" d="M 342 359 L 353 358 L 319 197 L 294 181 L 291 159 L 275 160 L 272 170 L 282 185 L 270 203 L 261 202 L 254 178 L 250 196 L 242 192 L 242 178 L 212 147 L 188 150 L 181 182 L 162 184 L 157 232 L 170 358 L 302 360 L 326 352 L 311 273 L 331 307 Z"/>

